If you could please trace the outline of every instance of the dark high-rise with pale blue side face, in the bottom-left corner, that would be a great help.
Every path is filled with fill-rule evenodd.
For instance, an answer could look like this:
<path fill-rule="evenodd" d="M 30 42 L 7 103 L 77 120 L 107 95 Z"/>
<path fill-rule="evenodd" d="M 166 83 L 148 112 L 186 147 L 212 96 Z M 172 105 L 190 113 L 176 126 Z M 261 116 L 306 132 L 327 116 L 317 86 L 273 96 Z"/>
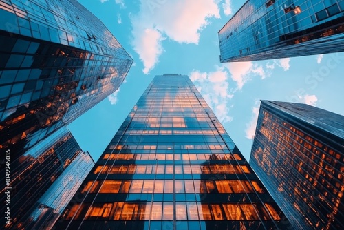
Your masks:
<path fill-rule="evenodd" d="M 10 185 L 0 191 L 1 229 L 52 227 L 93 166 L 65 127 L 39 142 L 10 163 Z"/>

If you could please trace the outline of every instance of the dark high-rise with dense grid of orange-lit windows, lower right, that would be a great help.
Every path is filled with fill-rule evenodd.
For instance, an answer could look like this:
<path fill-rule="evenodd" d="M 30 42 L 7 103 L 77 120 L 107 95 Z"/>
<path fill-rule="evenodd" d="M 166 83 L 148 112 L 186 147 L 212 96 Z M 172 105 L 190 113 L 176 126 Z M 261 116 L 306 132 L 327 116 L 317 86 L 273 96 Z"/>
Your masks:
<path fill-rule="evenodd" d="M 344 116 L 261 101 L 250 165 L 295 229 L 344 229 Z"/>

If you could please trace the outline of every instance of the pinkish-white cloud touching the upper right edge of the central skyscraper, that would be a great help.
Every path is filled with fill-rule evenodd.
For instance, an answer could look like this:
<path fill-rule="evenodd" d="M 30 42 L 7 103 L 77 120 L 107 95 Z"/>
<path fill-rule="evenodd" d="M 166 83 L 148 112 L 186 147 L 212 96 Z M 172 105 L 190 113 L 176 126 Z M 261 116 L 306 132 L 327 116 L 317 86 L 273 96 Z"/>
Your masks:
<path fill-rule="evenodd" d="M 215 72 L 209 73 L 193 70 L 189 76 L 219 121 L 222 123 L 232 121 L 233 118 L 228 116 L 230 110 L 228 100 L 233 97 L 233 94 L 229 92 L 229 76 L 224 67 L 217 67 Z"/>

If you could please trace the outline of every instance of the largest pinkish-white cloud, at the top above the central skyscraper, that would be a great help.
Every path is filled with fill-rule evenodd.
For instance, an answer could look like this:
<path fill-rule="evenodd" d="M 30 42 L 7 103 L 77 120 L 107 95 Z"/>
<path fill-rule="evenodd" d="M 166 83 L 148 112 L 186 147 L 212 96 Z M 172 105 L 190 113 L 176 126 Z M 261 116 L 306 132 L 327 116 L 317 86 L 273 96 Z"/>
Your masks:
<path fill-rule="evenodd" d="M 219 18 L 217 0 L 140 0 L 140 11 L 131 16 L 133 49 L 148 74 L 159 61 L 164 37 L 178 43 L 195 43 L 212 17 Z M 142 41 L 145 41 L 142 42 Z M 142 46 L 142 45 L 148 45 Z"/>

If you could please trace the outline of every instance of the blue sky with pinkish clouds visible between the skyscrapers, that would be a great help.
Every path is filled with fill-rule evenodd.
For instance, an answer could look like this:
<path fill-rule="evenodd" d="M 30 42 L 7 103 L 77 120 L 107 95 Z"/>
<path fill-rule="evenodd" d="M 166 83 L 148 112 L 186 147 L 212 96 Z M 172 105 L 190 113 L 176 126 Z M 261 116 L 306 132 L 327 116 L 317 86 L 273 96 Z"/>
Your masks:
<path fill-rule="evenodd" d="M 155 75 L 186 74 L 248 160 L 259 100 L 344 115 L 344 53 L 220 63 L 217 32 L 244 0 L 79 0 L 134 63 L 120 89 L 68 127 L 98 160 Z"/>

